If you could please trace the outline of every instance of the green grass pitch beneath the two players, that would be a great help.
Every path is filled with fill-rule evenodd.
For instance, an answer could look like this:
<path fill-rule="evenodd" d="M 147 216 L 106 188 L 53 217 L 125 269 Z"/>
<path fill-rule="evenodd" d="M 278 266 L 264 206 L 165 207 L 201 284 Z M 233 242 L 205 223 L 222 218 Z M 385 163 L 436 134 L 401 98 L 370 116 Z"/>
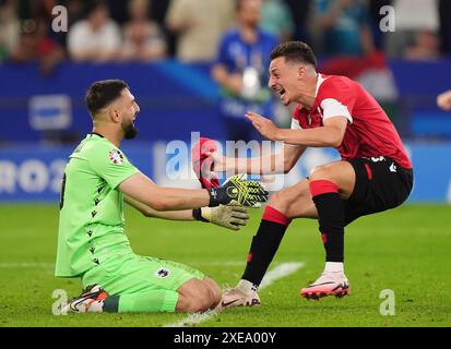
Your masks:
<path fill-rule="evenodd" d="M 137 253 L 192 265 L 233 286 L 239 279 L 261 212 L 241 232 L 201 222 L 144 218 L 128 208 Z M 0 206 L 1 326 L 162 326 L 183 314 L 52 315 L 52 292 L 80 293 L 78 279 L 54 277 L 57 205 Z M 323 266 L 314 220 L 296 220 L 270 268 L 302 262 L 296 273 L 261 293 L 262 306 L 232 309 L 198 326 L 451 326 L 451 207 L 407 205 L 360 218 L 346 230 L 346 274 L 352 293 L 306 301 L 298 290 Z M 380 298 L 394 292 L 395 314 L 382 316 Z"/>

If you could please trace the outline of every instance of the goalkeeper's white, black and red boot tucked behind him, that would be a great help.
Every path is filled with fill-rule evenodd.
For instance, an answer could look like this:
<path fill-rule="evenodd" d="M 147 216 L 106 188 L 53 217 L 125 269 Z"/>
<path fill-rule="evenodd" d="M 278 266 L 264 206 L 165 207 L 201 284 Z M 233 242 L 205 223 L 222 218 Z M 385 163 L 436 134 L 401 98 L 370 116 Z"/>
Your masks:
<path fill-rule="evenodd" d="M 72 299 L 63 309 L 73 313 L 100 313 L 108 293 L 98 285 L 91 285 L 82 294 Z"/>

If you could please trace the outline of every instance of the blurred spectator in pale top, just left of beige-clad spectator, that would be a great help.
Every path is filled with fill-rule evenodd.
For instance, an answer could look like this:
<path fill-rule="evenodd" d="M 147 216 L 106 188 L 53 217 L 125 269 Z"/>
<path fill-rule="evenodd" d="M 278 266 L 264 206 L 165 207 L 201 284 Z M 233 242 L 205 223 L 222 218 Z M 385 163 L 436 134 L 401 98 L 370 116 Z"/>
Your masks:
<path fill-rule="evenodd" d="M 164 58 L 165 38 L 158 24 L 149 19 L 149 0 L 131 0 L 129 17 L 123 27 L 121 59 L 152 61 Z"/>

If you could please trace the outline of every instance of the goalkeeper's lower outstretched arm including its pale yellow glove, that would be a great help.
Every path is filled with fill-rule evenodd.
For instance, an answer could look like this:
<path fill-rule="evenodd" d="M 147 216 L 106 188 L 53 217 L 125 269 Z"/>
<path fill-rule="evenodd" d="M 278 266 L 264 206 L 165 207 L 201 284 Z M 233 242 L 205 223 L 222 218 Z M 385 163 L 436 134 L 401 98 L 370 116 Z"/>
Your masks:
<path fill-rule="evenodd" d="M 239 230 L 242 226 L 246 226 L 249 219 L 248 209 L 245 206 L 239 205 L 219 205 L 217 207 L 158 212 L 127 195 L 124 195 L 124 200 L 130 206 L 141 212 L 145 217 L 168 220 L 201 220 L 232 230 Z"/>

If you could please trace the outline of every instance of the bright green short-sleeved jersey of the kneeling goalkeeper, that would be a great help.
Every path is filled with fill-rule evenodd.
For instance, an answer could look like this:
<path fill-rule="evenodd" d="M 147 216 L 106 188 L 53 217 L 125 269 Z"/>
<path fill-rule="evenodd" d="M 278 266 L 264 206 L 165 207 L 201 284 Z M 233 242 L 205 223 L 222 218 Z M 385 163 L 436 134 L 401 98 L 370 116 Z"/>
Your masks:
<path fill-rule="evenodd" d="M 60 198 L 56 276 L 78 277 L 102 256 L 131 253 L 118 185 L 139 170 L 99 134 L 88 134 L 66 167 Z"/>

